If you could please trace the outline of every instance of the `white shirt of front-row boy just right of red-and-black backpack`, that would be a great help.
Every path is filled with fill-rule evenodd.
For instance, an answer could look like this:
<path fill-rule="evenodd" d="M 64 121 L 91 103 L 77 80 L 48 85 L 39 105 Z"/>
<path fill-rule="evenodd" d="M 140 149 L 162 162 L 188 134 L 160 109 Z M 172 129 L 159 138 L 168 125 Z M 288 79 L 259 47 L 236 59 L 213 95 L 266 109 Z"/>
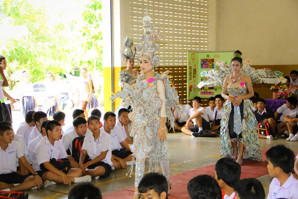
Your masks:
<path fill-rule="evenodd" d="M 91 160 L 99 156 L 102 151 L 108 151 L 105 159 L 102 162 L 113 166 L 111 161 L 112 158 L 112 138 L 109 134 L 104 131 L 100 131 L 97 140 L 94 140 L 93 134 L 88 134 L 84 138 L 82 150 L 87 150 L 87 154 Z"/>

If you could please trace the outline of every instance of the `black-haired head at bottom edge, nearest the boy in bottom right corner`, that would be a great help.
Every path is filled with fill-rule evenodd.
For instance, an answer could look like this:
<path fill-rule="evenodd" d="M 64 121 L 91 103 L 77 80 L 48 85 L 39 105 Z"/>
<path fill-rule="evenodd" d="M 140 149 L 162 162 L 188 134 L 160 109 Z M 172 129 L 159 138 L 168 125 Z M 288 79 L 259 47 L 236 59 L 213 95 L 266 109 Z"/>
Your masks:
<path fill-rule="evenodd" d="M 255 178 L 238 180 L 235 184 L 237 199 L 264 199 L 265 191 L 262 183 Z M 268 197 L 267 197 L 268 198 Z M 271 197 L 270 197 L 271 198 Z M 280 198 L 280 197 L 274 197 Z"/>

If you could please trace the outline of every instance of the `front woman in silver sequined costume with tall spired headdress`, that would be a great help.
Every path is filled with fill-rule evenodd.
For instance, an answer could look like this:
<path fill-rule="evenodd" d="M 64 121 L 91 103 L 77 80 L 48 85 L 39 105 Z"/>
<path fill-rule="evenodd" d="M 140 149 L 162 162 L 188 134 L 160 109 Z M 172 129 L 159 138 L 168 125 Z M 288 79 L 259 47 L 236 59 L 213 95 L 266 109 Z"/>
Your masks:
<path fill-rule="evenodd" d="M 159 57 L 156 51 L 159 45 L 154 41 L 163 37 L 160 29 L 154 31 L 150 25 L 150 16 L 146 11 L 143 18 L 142 44 L 138 45 L 138 61 L 140 62 L 141 74 L 138 76 L 135 86 L 132 88 L 124 85 L 123 91 L 118 91 L 112 99 L 120 97 L 132 105 L 133 112 L 129 113 L 132 121 L 130 135 L 133 144 L 130 150 L 136 161 L 135 168 L 135 194 L 134 199 L 140 197 L 138 185 L 145 171 L 145 159 L 149 159 L 149 171 L 158 172 L 158 162 L 162 173 L 169 183 L 169 149 L 166 141 L 166 118 L 169 118 L 174 126 L 174 117 L 170 108 L 181 111 L 175 88 L 171 87 L 167 74 L 162 75 L 154 72 L 159 65 Z M 133 158 L 133 159 L 134 159 Z M 132 164 L 133 165 L 133 164 Z M 133 172 L 131 167 L 130 174 Z"/>

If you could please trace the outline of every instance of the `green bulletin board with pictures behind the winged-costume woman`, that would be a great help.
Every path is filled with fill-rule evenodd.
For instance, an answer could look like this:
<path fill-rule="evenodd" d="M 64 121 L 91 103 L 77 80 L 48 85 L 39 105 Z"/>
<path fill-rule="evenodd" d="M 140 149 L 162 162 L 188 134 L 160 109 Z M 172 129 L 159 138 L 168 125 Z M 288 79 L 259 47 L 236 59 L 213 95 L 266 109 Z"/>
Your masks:
<path fill-rule="evenodd" d="M 199 89 L 197 85 L 205 80 L 205 77 L 201 77 L 201 72 L 216 70 L 214 67 L 217 61 L 229 62 L 233 54 L 234 51 L 201 53 L 187 51 L 187 100 L 195 96 L 209 98 L 221 94 L 221 87 L 203 86 Z"/>

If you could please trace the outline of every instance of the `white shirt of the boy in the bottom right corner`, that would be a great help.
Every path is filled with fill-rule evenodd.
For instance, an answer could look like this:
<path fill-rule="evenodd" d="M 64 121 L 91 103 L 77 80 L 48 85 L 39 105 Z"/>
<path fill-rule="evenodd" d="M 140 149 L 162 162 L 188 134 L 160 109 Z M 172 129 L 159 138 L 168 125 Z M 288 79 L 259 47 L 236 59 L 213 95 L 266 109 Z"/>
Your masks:
<path fill-rule="evenodd" d="M 269 186 L 267 199 L 274 198 L 298 198 L 298 180 L 293 177 L 292 173 L 282 186 L 280 186 L 280 182 L 277 178 L 273 178 Z"/>

